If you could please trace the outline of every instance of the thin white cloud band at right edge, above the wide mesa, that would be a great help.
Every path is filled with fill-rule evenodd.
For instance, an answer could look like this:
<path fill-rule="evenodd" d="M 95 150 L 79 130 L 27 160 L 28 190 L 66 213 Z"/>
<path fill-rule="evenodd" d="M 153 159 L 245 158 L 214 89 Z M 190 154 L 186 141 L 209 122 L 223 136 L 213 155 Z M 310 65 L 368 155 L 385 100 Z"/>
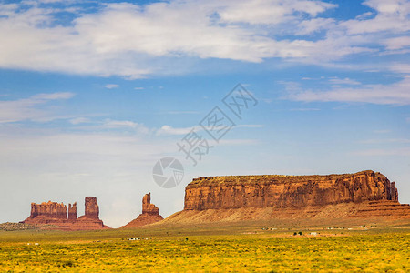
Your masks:
<path fill-rule="evenodd" d="M 410 105 L 410 76 L 390 85 L 362 85 L 333 87 L 329 91 L 303 90 L 301 86 L 287 86 L 288 98 L 304 102 L 363 102 L 382 105 Z"/>

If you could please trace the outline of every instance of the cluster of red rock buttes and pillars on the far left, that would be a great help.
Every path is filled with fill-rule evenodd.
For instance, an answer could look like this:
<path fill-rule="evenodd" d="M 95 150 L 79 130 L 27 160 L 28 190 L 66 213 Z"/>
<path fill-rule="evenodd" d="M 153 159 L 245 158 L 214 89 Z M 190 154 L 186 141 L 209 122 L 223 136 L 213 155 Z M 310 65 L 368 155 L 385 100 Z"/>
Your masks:
<path fill-rule="evenodd" d="M 87 230 L 109 228 L 98 218 L 99 209 L 96 197 L 86 197 L 86 215 L 77 218 L 77 203 L 68 204 L 48 201 L 47 203 L 31 204 L 30 217 L 22 223 L 43 225 L 52 224 L 60 229 Z"/>

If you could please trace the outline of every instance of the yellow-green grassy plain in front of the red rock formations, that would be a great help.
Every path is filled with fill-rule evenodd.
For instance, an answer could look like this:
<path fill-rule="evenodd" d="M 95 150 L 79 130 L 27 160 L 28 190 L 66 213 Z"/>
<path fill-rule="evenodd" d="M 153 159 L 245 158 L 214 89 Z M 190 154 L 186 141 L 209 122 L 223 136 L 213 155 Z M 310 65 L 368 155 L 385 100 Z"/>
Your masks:
<path fill-rule="evenodd" d="M 410 229 L 1 231 L 1 272 L 410 272 Z M 141 238 L 128 240 L 128 238 Z M 144 238 L 144 239 L 142 239 Z M 29 244 L 29 245 L 28 245 Z"/>

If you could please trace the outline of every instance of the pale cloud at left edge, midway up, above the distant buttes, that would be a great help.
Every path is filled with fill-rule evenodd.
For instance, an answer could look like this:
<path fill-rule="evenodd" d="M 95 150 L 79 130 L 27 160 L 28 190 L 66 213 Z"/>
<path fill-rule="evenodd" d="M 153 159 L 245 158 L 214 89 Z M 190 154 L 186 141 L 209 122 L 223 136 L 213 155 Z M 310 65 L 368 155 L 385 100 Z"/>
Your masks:
<path fill-rule="evenodd" d="M 47 110 L 47 103 L 73 96 L 75 94 L 69 92 L 45 93 L 17 100 L 0 101 L 0 123 L 58 118 L 51 110 Z"/>

